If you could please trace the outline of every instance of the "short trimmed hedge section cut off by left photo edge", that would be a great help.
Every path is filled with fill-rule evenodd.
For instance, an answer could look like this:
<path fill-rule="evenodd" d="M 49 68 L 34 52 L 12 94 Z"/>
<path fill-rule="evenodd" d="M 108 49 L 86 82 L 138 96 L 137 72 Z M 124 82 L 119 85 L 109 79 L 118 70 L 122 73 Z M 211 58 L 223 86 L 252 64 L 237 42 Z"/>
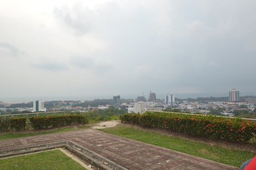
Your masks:
<path fill-rule="evenodd" d="M 1 118 L 0 132 L 8 132 L 15 129 L 16 131 L 25 130 L 26 118 Z"/>

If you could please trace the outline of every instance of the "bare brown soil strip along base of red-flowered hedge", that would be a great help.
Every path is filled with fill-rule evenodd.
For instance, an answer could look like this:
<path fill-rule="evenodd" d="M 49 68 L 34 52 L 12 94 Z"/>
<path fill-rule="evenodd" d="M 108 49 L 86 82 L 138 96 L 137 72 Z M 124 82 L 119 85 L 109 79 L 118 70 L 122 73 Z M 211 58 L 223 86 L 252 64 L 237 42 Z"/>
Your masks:
<path fill-rule="evenodd" d="M 236 149 L 236 150 L 250 151 L 252 153 L 256 153 L 256 144 L 252 144 L 252 143 L 232 143 L 228 141 L 213 141 L 211 139 L 205 139 L 203 137 L 193 137 L 193 136 L 189 136 L 179 132 L 172 132 L 172 131 L 168 131 L 160 128 L 145 128 L 139 125 L 132 125 L 128 123 L 121 123 L 120 125 L 117 125 L 117 127 L 118 126 L 134 127 L 140 130 L 147 130 L 149 132 L 157 132 L 157 133 L 169 135 L 172 137 L 179 137 L 181 139 L 186 139 L 188 141 L 195 141 L 198 143 L 210 144 L 211 146 L 221 146 L 223 148 L 228 148 L 232 150 Z"/>

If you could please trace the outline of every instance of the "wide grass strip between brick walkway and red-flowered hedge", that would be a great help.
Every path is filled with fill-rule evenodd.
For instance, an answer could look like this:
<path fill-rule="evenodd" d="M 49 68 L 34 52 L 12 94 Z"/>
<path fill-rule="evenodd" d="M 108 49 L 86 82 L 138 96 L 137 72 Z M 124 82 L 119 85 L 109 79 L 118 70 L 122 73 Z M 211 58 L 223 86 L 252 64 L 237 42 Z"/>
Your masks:
<path fill-rule="evenodd" d="M 196 157 L 207 158 L 230 166 L 240 167 L 244 161 L 255 156 L 255 154 L 250 153 L 249 151 L 231 150 L 218 146 L 211 146 L 210 144 L 188 141 L 186 139 L 180 139 L 179 137 L 170 137 L 157 132 L 148 132 L 147 130 L 126 127 L 125 125 L 118 125 L 117 127 L 100 130 L 102 132 L 127 137 L 143 143 L 154 144 L 170 150 L 188 153 L 189 155 L 194 155 Z"/>

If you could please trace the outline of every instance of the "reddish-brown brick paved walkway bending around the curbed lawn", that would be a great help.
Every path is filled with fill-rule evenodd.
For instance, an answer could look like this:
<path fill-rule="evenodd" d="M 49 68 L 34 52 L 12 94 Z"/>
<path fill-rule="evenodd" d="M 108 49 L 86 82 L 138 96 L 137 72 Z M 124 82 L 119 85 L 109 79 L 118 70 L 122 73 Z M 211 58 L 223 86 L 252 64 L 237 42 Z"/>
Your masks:
<path fill-rule="evenodd" d="M 236 169 L 93 129 L 4 140 L 0 151 L 60 141 L 72 141 L 127 169 Z"/>

